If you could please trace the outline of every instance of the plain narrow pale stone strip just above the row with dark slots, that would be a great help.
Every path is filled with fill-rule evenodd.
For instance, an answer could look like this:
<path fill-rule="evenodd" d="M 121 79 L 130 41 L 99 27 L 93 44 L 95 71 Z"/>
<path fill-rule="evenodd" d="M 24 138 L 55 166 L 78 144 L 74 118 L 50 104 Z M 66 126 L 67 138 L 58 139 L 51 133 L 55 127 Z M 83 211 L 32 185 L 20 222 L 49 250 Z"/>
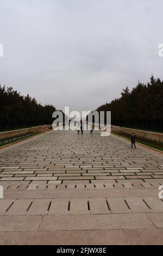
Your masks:
<path fill-rule="evenodd" d="M 106 189 L 106 190 L 47 190 L 45 191 L 4 191 L 5 199 L 31 199 L 31 198 L 102 198 L 102 197 L 150 197 L 158 196 L 156 188 L 142 189 Z"/>

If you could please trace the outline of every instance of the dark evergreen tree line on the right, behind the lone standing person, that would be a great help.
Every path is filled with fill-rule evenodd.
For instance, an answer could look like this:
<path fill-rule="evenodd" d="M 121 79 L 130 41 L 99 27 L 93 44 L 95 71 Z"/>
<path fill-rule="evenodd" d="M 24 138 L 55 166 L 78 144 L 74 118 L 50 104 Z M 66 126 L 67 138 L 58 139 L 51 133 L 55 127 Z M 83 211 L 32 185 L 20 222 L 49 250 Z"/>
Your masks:
<path fill-rule="evenodd" d="M 139 82 L 131 91 L 126 87 L 120 98 L 97 111 L 111 111 L 112 125 L 163 131 L 163 81 L 152 75 L 147 84 Z"/>

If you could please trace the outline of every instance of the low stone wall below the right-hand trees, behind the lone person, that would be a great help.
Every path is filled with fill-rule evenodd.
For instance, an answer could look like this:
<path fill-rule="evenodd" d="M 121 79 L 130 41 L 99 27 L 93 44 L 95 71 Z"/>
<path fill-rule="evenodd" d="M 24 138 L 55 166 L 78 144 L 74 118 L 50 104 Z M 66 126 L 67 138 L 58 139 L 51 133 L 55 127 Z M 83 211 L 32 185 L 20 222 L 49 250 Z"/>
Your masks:
<path fill-rule="evenodd" d="M 153 139 L 153 141 L 163 142 L 163 133 L 149 132 L 149 131 L 143 131 L 143 130 L 137 130 L 137 129 L 124 128 L 124 127 L 121 127 L 120 131 L 126 135 L 130 135 L 132 132 L 134 132 L 135 136 L 137 137 Z"/>

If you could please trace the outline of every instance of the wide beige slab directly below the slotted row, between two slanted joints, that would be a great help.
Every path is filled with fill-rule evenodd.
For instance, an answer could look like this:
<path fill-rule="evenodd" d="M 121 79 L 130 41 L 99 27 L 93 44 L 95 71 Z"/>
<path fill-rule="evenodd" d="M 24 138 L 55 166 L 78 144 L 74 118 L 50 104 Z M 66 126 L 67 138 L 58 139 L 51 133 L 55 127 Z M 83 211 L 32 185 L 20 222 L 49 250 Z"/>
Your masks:
<path fill-rule="evenodd" d="M 43 216 L 39 230 L 102 230 L 153 227 L 153 223 L 146 214 L 56 215 Z"/>

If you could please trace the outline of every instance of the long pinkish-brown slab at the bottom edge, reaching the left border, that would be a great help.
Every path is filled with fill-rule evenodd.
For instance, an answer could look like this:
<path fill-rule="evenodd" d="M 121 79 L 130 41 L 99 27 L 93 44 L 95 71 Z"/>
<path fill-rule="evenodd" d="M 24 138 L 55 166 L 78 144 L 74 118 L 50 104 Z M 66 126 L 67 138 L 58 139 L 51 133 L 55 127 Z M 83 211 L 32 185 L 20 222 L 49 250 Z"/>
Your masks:
<path fill-rule="evenodd" d="M 0 245 L 128 245 L 123 230 L 0 232 Z"/>

